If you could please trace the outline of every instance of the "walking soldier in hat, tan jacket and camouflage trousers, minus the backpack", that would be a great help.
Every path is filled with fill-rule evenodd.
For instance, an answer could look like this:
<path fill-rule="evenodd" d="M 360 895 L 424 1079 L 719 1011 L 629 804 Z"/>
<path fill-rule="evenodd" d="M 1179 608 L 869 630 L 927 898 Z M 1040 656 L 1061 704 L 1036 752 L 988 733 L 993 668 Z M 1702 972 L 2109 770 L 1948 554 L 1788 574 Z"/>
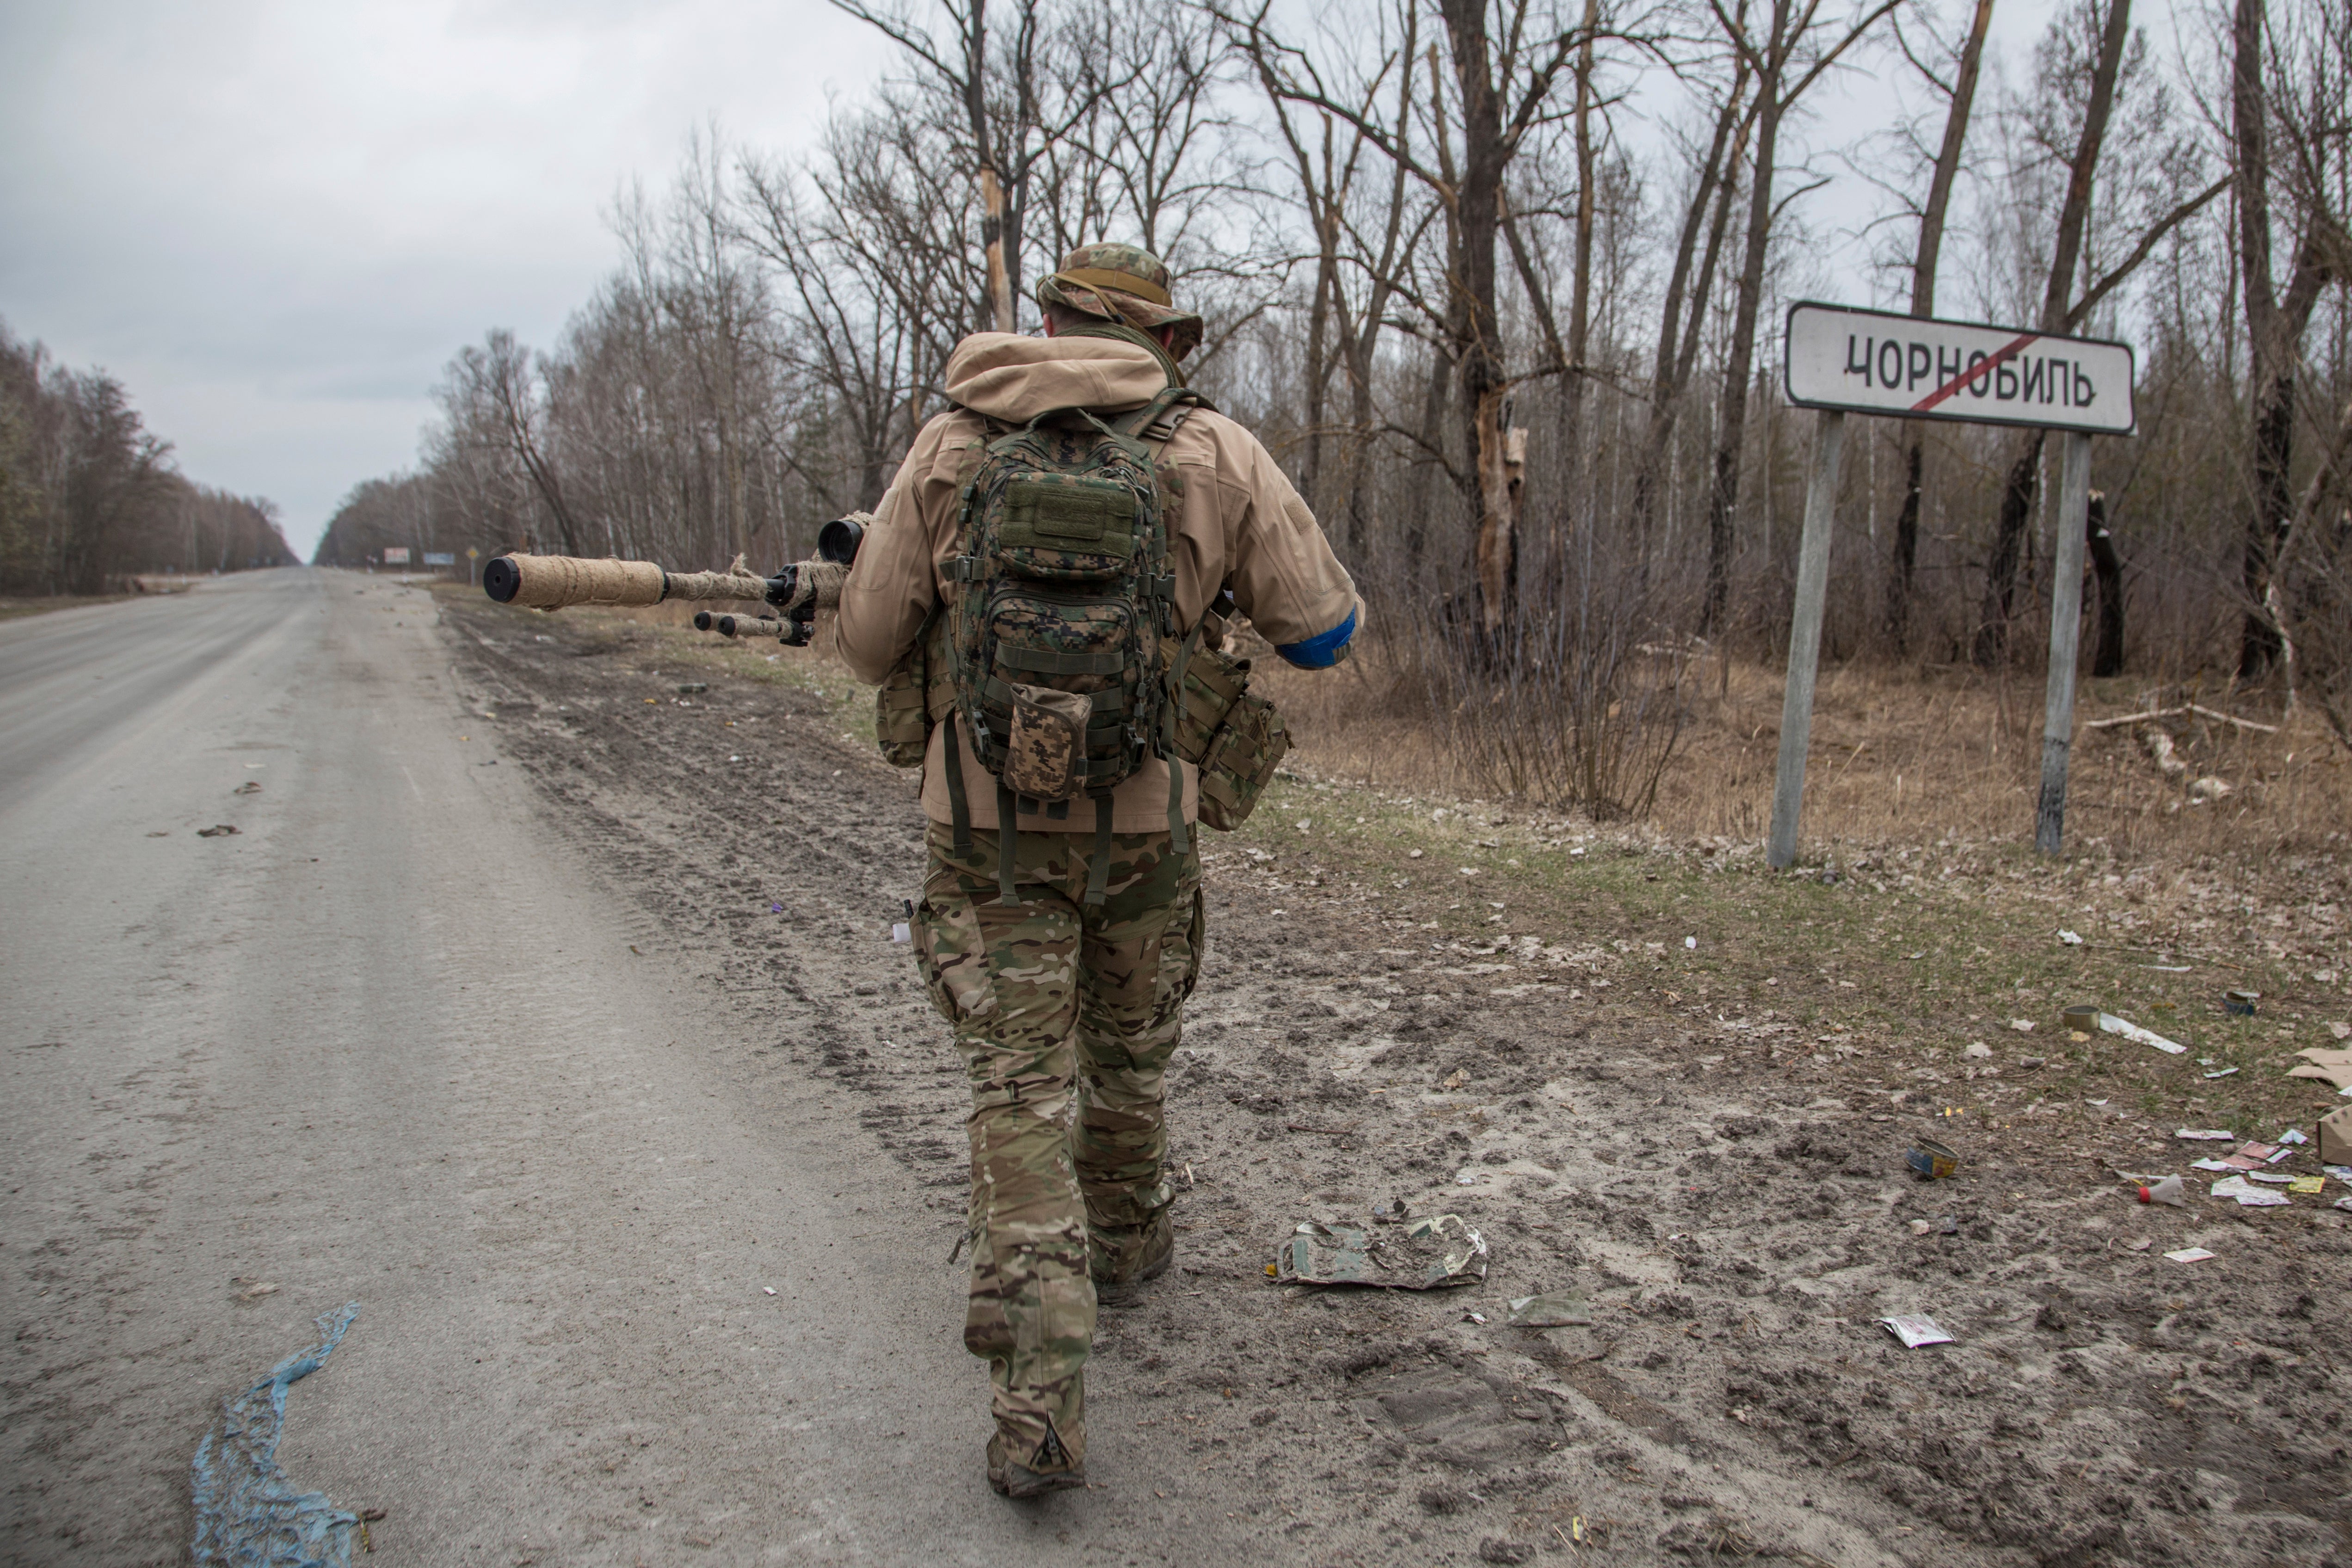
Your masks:
<path fill-rule="evenodd" d="M 1070 252 L 1037 303 L 1047 336 L 983 331 L 955 348 L 955 407 L 922 428 L 875 512 L 835 632 L 866 682 L 884 682 L 969 581 L 964 496 L 990 442 L 1061 409 L 1157 414 L 1202 339 L 1167 268 L 1129 244 Z M 1207 407 L 1176 404 L 1143 435 L 1164 475 L 1171 630 L 1197 635 L 1230 592 L 1289 663 L 1338 663 L 1362 616 L 1355 583 L 1272 454 Z M 1162 1079 L 1200 976 L 1202 896 L 1197 769 L 1174 762 L 1178 797 L 1169 766 L 1143 757 L 1094 811 L 1023 799 L 1000 823 L 1014 795 L 960 715 L 924 752 L 915 954 L 971 1077 L 964 1347 L 990 1368 L 988 1481 L 1007 1497 L 1084 1483 L 1096 1286 L 1152 1279 L 1174 1248 Z"/>

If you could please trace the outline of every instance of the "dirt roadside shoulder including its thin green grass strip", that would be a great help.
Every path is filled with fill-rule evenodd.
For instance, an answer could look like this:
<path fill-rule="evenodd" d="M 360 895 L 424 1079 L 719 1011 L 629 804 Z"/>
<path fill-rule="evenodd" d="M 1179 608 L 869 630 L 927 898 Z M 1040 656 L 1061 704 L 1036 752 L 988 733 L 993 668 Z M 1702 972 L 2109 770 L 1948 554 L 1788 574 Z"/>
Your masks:
<path fill-rule="evenodd" d="M 962 1079 L 887 940 L 920 825 L 863 693 L 682 628 L 437 597 L 550 816 L 741 997 L 746 1065 L 851 1095 L 931 1194 L 906 1246 L 946 1258 Z M 2281 1063 L 2352 1013 L 2340 856 L 2260 889 L 2004 844 L 1797 879 L 1301 773 L 1204 863 L 1181 1267 L 1105 1312 L 1089 1378 L 1098 1427 L 1183 1462 L 1098 1476 L 1148 1497 L 1105 1544 L 1176 1549 L 1214 1509 L 1282 1563 L 2352 1563 L 2345 1190 L 2173 1211 L 2117 1178 L 2197 1175 L 2218 1145 L 2178 1126 L 2272 1138 L 2331 1100 Z M 818 1023 L 769 1027 L 779 987 Z M 2190 1051 L 2067 1039 L 2070 1001 Z M 1905 1171 L 1922 1135 L 1952 1180 Z M 1475 1225 L 1489 1276 L 1265 1276 L 1301 1220 L 1399 1197 Z M 2164 1258 L 2190 1246 L 2216 1258 Z M 1508 1326 L 1536 1291 L 1592 1324 Z M 1889 1314 L 1957 1342 L 1903 1349 Z"/>

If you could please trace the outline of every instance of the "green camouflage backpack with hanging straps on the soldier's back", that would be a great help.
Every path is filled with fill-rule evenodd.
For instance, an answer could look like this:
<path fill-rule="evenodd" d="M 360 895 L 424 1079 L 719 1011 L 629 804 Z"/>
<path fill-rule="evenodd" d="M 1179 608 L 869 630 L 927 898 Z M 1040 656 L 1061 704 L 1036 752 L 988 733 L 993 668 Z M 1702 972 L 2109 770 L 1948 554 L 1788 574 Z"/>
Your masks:
<path fill-rule="evenodd" d="M 1094 802 L 1087 903 L 1110 870 L 1110 792 L 1145 757 L 1169 762 L 1169 837 L 1188 851 L 1171 691 L 1200 628 L 1176 630 L 1169 564 L 1171 475 L 1152 458 L 1195 407 L 1171 386 L 1110 421 L 1054 409 L 995 435 L 964 484 L 957 555 L 946 576 L 955 708 L 997 780 L 997 886 L 1014 891 L 1016 818 L 1068 820 Z M 964 769 L 948 726 L 948 799 L 957 849 L 971 846 Z"/>

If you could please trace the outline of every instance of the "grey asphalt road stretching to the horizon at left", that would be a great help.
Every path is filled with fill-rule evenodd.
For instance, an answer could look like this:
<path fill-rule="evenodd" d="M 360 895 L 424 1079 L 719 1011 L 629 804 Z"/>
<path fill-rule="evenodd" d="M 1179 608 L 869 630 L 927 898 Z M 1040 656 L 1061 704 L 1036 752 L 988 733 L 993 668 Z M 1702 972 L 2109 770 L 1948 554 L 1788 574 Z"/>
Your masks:
<path fill-rule="evenodd" d="M 299 569 L 0 625 L 0 1559 L 186 1561 L 223 1396 L 358 1300 L 280 1460 L 369 1563 L 1136 1561 L 985 1493 L 936 1215 L 694 1048 L 433 621 Z"/>

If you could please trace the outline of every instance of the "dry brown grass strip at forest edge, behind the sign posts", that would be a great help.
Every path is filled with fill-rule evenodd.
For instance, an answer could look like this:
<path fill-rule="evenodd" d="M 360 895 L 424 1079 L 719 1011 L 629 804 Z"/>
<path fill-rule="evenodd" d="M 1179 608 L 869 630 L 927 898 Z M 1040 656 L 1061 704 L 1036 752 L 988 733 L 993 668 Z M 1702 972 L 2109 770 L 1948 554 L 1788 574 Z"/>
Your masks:
<path fill-rule="evenodd" d="M 1296 736 L 1303 773 L 1374 790 L 1484 797 L 1482 780 L 1446 745 L 1444 726 L 1378 651 L 1334 675 L 1268 668 Z M 1649 827 L 1670 839 L 1762 842 L 1771 820 L 1780 745 L 1778 668 L 1708 663 L 1691 726 L 1668 766 Z M 2183 691 L 2161 693 L 2178 705 Z M 2206 708 L 2277 724 L 2267 698 L 2190 691 Z M 2133 677 L 2084 682 L 2082 719 L 2159 705 Z M 2164 778 L 2140 750 L 2138 726 L 2082 729 L 2074 743 L 2067 844 L 2145 863 L 2260 865 L 2343 842 L 2352 827 L 2352 755 L 2307 710 L 2277 733 L 2211 719 L 2169 722 L 2185 778 Z M 2230 795 L 2197 802 L 2192 778 Z M 1804 853 L 1851 858 L 1903 844 L 2023 842 L 2032 837 L 2042 780 L 2042 682 L 1976 670 L 1823 670 L 1806 764 Z M 1508 802 L 1534 804 L 1534 802 Z"/>

